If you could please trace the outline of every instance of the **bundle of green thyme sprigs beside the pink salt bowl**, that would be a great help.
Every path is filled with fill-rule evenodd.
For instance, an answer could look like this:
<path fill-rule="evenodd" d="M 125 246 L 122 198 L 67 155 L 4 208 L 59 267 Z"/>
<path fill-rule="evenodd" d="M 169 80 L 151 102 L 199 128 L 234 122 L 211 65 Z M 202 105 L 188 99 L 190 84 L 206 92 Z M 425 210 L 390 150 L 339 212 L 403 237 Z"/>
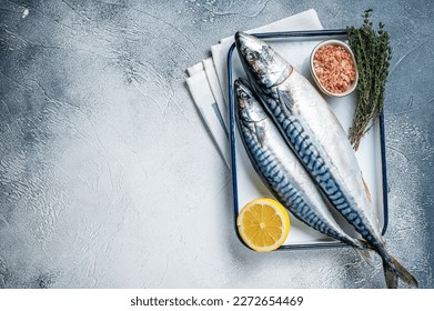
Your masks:
<path fill-rule="evenodd" d="M 379 30 L 373 28 L 371 14 L 372 9 L 362 14 L 361 28 L 346 28 L 349 43 L 359 69 L 357 104 L 350 129 L 350 141 L 355 150 L 383 110 L 385 83 L 392 59 L 388 33 L 382 22 L 379 23 Z"/>

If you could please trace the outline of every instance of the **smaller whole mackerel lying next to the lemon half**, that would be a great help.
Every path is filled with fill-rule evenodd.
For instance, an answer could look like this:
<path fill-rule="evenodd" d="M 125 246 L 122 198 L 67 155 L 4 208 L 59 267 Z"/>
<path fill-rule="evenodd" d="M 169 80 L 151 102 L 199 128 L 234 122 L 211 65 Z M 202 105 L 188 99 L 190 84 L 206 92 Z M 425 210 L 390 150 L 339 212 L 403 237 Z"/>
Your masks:
<path fill-rule="evenodd" d="M 335 222 L 321 192 L 249 87 L 235 81 L 235 116 L 241 140 L 264 184 L 282 204 L 309 227 L 363 249 Z"/>

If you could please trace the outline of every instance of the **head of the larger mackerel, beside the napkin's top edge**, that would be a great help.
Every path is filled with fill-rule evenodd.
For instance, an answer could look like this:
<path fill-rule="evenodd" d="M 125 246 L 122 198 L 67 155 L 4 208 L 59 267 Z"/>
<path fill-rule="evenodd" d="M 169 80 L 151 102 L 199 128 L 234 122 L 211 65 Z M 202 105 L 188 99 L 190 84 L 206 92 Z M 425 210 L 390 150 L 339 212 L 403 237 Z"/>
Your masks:
<path fill-rule="evenodd" d="M 245 32 L 235 33 L 235 43 L 249 79 L 261 89 L 282 83 L 292 72 L 292 66 L 268 43 Z"/>

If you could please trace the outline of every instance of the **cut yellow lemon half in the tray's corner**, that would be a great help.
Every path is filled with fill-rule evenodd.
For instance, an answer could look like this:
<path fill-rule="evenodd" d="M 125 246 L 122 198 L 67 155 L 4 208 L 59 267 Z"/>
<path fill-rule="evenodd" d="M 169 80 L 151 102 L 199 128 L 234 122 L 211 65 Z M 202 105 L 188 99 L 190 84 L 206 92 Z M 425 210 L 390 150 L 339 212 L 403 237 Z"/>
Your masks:
<path fill-rule="evenodd" d="M 252 250 L 269 252 L 277 249 L 290 232 L 290 217 L 277 201 L 260 198 L 244 205 L 236 218 L 241 239 Z"/>

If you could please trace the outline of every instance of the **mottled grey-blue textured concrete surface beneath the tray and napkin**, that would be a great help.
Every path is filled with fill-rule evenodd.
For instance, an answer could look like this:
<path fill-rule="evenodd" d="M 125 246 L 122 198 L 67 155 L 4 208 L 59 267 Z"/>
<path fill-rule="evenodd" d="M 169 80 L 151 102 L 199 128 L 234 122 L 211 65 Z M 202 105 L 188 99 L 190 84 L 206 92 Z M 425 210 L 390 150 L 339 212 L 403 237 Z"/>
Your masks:
<path fill-rule="evenodd" d="M 394 254 L 432 288 L 432 1 L 0 2 L 0 288 L 383 288 L 350 249 L 254 253 L 186 89 L 211 44 L 314 8 L 391 34 Z M 430 190 L 431 189 L 431 190 Z"/>

